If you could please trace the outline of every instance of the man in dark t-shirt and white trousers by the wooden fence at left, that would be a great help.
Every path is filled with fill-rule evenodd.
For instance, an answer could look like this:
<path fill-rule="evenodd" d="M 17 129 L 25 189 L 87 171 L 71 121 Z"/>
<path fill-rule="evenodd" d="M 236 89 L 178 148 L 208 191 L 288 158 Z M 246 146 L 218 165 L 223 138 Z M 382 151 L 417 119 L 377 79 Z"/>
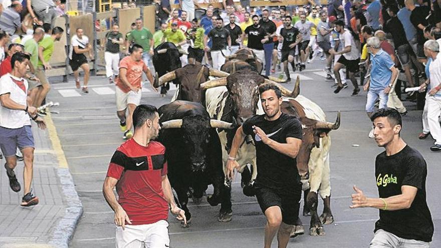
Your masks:
<path fill-rule="evenodd" d="M 124 44 L 122 34 L 119 32 L 118 24 L 112 26 L 112 31 L 106 34 L 106 52 L 104 53 L 104 60 L 106 62 L 106 77 L 109 83 L 113 83 L 113 77 L 119 74 L 119 46 Z"/>

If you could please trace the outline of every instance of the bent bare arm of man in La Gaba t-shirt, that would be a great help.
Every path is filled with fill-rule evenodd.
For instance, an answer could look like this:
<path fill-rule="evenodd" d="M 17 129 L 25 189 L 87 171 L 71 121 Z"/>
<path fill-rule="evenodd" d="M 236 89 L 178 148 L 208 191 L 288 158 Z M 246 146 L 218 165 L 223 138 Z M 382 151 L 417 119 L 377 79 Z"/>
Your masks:
<path fill-rule="evenodd" d="M 417 188 L 409 185 L 401 186 L 401 194 L 387 198 L 367 198 L 363 191 L 354 185 L 355 194 L 352 194 L 352 205 L 350 208 L 373 207 L 383 210 L 407 209 L 412 205 Z"/>

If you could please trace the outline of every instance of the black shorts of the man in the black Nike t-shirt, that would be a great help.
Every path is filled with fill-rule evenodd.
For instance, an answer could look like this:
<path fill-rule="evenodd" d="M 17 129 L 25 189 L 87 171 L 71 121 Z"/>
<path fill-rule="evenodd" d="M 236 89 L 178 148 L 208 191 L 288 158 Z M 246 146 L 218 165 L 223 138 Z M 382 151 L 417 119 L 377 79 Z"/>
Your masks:
<path fill-rule="evenodd" d="M 299 185 L 298 192 L 281 193 L 278 190 L 255 184 L 256 197 L 262 212 L 265 214 L 267 208 L 279 206 L 282 210 L 282 221 L 289 225 L 296 224 L 299 217 L 300 198 L 302 196 L 301 187 Z"/>

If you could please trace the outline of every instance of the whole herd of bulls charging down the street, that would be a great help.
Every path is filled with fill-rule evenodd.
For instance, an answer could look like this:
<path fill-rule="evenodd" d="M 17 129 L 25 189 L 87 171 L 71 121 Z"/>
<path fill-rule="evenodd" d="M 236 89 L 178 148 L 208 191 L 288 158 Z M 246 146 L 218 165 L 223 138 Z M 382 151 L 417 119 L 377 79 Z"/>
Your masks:
<path fill-rule="evenodd" d="M 162 129 L 158 139 L 166 147 L 168 177 L 187 222 L 191 221 L 188 197 L 200 203 L 210 184 L 214 190 L 207 195 L 208 203 L 221 205 L 217 220 L 232 219 L 231 182 L 225 176 L 228 153 L 237 128 L 253 115 L 264 113 L 258 87 L 271 82 L 284 96 L 282 112 L 298 117 L 302 123 L 303 143 L 297 167 L 304 190 L 303 215 L 311 215 L 310 235 L 324 235 L 322 224 L 334 221 L 330 208 L 329 132 L 339 128 L 340 112 L 335 123 L 327 122 L 323 110 L 299 94 L 299 78 L 294 90 L 289 91 L 277 79 L 262 76 L 262 62 L 247 48 L 228 56 L 220 71 L 200 64 L 181 67 L 180 55 L 172 43 L 163 43 L 155 49 L 153 64 L 155 87 L 169 82 L 179 86 L 172 102 L 159 108 Z M 251 137 L 240 148 L 237 161 L 242 166 L 239 172 L 243 191 L 253 196 L 257 167 Z M 319 193 L 324 202 L 320 217 Z M 300 218 L 295 230 L 303 231 Z"/>

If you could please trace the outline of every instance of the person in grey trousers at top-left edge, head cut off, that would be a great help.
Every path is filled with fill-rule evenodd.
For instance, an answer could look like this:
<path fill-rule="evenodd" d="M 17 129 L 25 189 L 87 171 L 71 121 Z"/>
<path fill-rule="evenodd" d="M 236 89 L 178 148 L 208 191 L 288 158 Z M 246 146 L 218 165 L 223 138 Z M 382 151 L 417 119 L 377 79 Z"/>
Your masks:
<path fill-rule="evenodd" d="M 27 7 L 32 20 L 35 23 L 42 22 L 41 25 L 48 23 L 54 28 L 55 19 L 57 18 L 57 7 L 53 0 L 27 0 Z"/>

